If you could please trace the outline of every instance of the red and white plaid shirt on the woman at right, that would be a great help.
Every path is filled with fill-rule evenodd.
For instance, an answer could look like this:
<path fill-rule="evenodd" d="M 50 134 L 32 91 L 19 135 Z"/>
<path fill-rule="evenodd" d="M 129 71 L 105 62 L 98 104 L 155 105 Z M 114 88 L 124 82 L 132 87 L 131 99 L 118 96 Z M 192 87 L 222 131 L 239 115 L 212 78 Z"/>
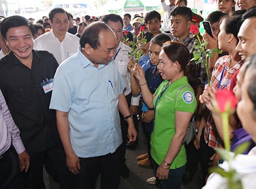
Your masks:
<path fill-rule="evenodd" d="M 219 57 L 217 62 L 215 63 L 213 74 L 211 78 L 211 85 L 214 87 L 219 87 L 219 89 L 229 89 L 231 84 L 232 76 L 237 72 L 238 69 L 242 66 L 243 62 L 238 62 L 235 66 L 229 68 L 229 64 L 231 62 L 230 55 L 225 55 Z M 223 74 L 222 80 L 220 81 L 220 77 Z M 220 82 L 220 85 L 219 85 Z M 208 146 L 216 149 L 219 143 L 219 135 L 217 128 L 215 126 L 213 116 L 210 113 L 204 127 L 204 139 L 205 142 L 208 143 Z"/>

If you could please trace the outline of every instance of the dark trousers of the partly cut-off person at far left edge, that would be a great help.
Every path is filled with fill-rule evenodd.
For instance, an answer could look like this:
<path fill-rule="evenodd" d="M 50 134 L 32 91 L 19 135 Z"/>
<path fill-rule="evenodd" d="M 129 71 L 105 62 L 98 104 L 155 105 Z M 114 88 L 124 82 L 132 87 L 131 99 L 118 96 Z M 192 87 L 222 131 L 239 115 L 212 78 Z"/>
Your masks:
<path fill-rule="evenodd" d="M 6 156 L 0 159 L 0 188 L 24 189 L 24 187 L 19 158 L 11 145 L 6 151 Z"/>

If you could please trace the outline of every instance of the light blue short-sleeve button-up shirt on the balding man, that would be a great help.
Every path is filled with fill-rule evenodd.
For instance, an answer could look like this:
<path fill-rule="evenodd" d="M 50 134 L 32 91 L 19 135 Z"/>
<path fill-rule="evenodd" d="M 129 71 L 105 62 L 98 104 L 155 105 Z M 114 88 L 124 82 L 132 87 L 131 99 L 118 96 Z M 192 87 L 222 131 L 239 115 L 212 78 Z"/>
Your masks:
<path fill-rule="evenodd" d="M 78 157 L 103 156 L 121 145 L 118 102 L 124 88 L 112 59 L 96 68 L 80 48 L 59 66 L 50 109 L 68 112 L 69 135 Z"/>

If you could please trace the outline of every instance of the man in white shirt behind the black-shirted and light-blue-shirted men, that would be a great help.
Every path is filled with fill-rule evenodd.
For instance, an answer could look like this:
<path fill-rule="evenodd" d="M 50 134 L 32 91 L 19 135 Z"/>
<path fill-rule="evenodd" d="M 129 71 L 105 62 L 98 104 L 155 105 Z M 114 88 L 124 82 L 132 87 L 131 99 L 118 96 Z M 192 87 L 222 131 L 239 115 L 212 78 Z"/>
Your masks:
<path fill-rule="evenodd" d="M 49 13 L 51 31 L 34 40 L 34 49 L 49 51 L 59 64 L 75 54 L 79 46 L 79 38 L 67 32 L 68 18 L 63 8 L 52 9 Z"/>

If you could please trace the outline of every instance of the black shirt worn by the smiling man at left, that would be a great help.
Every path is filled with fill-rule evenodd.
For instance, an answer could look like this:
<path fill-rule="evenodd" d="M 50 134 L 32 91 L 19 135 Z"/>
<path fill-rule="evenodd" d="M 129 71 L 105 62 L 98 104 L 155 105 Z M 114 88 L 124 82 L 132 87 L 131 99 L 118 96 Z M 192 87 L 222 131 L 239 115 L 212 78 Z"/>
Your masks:
<path fill-rule="evenodd" d="M 31 69 L 10 52 L 0 60 L 0 88 L 28 152 L 59 144 L 56 115 L 49 109 L 52 92 L 44 93 L 43 80 L 54 77 L 59 65 L 46 51 L 33 50 Z"/>

